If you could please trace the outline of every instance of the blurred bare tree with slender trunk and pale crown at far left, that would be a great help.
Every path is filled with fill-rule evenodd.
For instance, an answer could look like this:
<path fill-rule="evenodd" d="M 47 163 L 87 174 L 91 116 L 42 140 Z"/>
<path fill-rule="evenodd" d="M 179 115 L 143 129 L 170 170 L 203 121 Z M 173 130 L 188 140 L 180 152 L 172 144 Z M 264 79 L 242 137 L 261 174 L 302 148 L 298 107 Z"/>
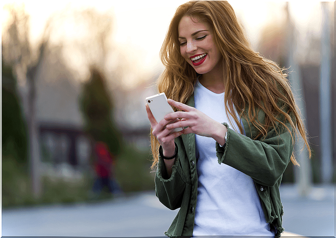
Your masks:
<path fill-rule="evenodd" d="M 41 63 L 41 50 L 38 55 L 38 61 L 33 61 L 32 47 L 28 39 L 29 35 L 29 15 L 25 11 L 24 4 L 18 6 L 16 4 L 7 4 L 4 6 L 10 13 L 11 22 L 6 29 L 5 35 L 2 37 L 2 49 L 4 60 L 14 69 L 14 74 L 17 79 L 23 82 L 27 87 L 26 118 L 29 134 L 28 152 L 30 174 L 32 179 L 32 188 L 35 197 L 40 196 L 40 181 L 39 181 L 39 164 L 40 153 L 39 143 L 37 140 L 37 125 L 35 122 L 35 73 Z M 16 85 L 15 85 L 16 87 Z M 17 90 L 19 91 L 19 90 Z M 19 95 L 19 94 L 18 94 Z"/>

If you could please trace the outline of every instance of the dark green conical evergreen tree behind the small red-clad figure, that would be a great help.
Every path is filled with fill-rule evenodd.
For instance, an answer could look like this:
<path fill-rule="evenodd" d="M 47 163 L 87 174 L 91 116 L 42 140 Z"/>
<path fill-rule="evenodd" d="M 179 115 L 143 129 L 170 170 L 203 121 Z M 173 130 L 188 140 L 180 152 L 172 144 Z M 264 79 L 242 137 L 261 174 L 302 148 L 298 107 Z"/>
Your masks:
<path fill-rule="evenodd" d="M 85 120 L 85 130 L 96 141 L 105 142 L 114 155 L 121 151 L 121 135 L 113 120 L 113 101 L 109 96 L 105 77 L 91 67 L 91 77 L 83 85 L 80 108 Z"/>

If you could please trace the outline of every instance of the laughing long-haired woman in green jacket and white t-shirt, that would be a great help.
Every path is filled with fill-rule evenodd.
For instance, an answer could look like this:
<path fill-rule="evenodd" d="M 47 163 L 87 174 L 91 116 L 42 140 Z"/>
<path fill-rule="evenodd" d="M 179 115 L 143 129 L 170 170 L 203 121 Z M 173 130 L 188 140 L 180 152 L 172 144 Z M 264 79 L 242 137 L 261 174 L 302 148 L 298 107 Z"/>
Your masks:
<path fill-rule="evenodd" d="M 165 235 L 280 236 L 296 127 L 309 150 L 286 74 L 251 48 L 225 1 L 179 6 L 161 60 L 158 89 L 175 112 L 157 122 L 146 110 L 156 195 L 180 208 Z"/>

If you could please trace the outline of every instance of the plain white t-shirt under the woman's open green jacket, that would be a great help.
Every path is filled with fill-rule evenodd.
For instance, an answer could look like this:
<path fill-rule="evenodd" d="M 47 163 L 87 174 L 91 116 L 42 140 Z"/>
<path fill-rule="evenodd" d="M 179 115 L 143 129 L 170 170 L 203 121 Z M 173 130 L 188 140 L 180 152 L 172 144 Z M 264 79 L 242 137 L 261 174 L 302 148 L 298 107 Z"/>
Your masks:
<path fill-rule="evenodd" d="M 197 80 L 194 97 L 196 109 L 215 121 L 229 123 L 224 93 L 214 93 Z M 235 123 L 233 119 L 231 122 Z M 229 126 L 239 131 L 237 124 Z M 193 235 L 274 237 L 252 178 L 224 163 L 218 164 L 215 142 L 211 137 L 196 135 L 198 193 Z"/>

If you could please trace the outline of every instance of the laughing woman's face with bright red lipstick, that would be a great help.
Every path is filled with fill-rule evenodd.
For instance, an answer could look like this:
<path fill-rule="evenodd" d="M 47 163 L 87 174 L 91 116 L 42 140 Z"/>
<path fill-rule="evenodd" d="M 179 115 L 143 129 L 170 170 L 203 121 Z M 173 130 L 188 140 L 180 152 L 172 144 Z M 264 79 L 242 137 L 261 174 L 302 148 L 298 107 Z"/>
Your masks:
<path fill-rule="evenodd" d="M 197 73 L 220 70 L 222 55 L 208 23 L 200 22 L 195 17 L 183 16 L 178 24 L 178 40 L 181 55 Z"/>

